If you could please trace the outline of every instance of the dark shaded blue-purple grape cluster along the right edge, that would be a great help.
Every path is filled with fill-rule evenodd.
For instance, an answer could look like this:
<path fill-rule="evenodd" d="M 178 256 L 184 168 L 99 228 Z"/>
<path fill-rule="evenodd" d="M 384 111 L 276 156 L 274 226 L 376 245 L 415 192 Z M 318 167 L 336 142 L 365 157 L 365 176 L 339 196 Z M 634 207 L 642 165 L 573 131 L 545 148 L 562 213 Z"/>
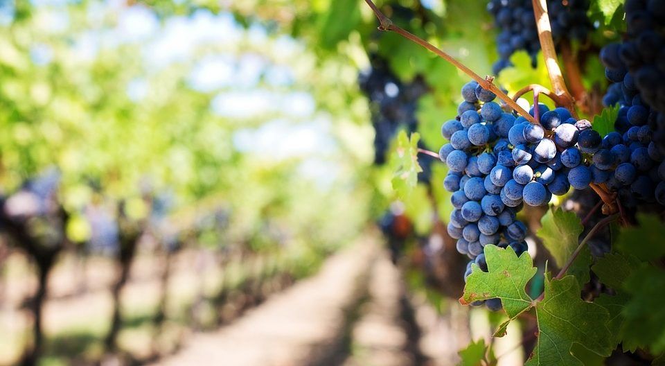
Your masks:
<path fill-rule="evenodd" d="M 618 104 L 619 116 L 592 168 L 624 206 L 665 204 L 665 1 L 628 0 L 624 8 L 626 37 L 600 53 L 613 82 L 603 104 Z"/>

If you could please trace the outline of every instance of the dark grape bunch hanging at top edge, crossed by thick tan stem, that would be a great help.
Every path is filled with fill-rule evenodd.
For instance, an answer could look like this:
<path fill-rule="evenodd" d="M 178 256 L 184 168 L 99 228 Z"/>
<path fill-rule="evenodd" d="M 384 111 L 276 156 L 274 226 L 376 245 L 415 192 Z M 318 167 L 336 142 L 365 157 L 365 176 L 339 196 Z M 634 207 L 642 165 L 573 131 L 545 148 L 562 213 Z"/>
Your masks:
<path fill-rule="evenodd" d="M 586 15 L 588 0 L 551 0 L 547 1 L 547 7 L 555 42 L 587 38 L 592 29 Z M 529 53 L 535 67 L 540 42 L 531 0 L 490 0 L 487 10 L 493 15 L 497 28 L 501 29 L 497 36 L 499 60 L 493 66 L 495 75 L 511 65 L 510 58 L 515 51 Z"/>

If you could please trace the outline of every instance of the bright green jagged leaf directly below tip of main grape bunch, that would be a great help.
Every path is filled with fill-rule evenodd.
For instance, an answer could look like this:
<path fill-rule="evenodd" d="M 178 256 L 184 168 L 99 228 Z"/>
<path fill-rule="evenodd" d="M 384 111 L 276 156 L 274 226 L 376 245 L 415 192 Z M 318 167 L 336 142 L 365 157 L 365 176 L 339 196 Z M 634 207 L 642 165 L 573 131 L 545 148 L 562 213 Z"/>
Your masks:
<path fill-rule="evenodd" d="M 524 288 L 538 269 L 533 267 L 529 253 L 522 253 L 518 258 L 511 247 L 503 249 L 487 245 L 485 256 L 488 272 L 483 272 L 478 265 L 471 265 L 472 272 L 466 279 L 460 304 L 499 297 L 511 318 L 530 308 L 533 299 Z"/>

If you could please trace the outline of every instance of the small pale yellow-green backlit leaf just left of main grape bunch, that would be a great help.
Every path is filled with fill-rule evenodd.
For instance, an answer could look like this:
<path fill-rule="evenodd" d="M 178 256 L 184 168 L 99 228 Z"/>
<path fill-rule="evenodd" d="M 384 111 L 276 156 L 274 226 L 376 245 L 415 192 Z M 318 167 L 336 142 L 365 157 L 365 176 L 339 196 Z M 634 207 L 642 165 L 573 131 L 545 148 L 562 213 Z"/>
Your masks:
<path fill-rule="evenodd" d="M 407 132 L 400 131 L 397 136 L 397 147 L 393 155 L 393 166 L 396 167 L 396 173 L 393 176 L 393 189 L 397 191 L 400 198 L 406 198 L 418 184 L 418 173 L 423 171 L 418 164 L 418 140 L 420 135 L 411 134 L 411 139 L 407 137 Z"/>

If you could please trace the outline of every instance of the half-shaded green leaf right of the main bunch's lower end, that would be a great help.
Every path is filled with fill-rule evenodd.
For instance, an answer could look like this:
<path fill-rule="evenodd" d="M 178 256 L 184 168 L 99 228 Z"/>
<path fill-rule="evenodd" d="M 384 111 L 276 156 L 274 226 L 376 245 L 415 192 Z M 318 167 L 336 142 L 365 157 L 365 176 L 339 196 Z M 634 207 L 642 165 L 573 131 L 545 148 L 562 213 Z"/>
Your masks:
<path fill-rule="evenodd" d="M 551 207 L 540 219 L 542 227 L 536 233 L 552 255 L 556 265 L 562 268 L 579 245 L 584 230 L 582 221 L 573 211 Z"/>

